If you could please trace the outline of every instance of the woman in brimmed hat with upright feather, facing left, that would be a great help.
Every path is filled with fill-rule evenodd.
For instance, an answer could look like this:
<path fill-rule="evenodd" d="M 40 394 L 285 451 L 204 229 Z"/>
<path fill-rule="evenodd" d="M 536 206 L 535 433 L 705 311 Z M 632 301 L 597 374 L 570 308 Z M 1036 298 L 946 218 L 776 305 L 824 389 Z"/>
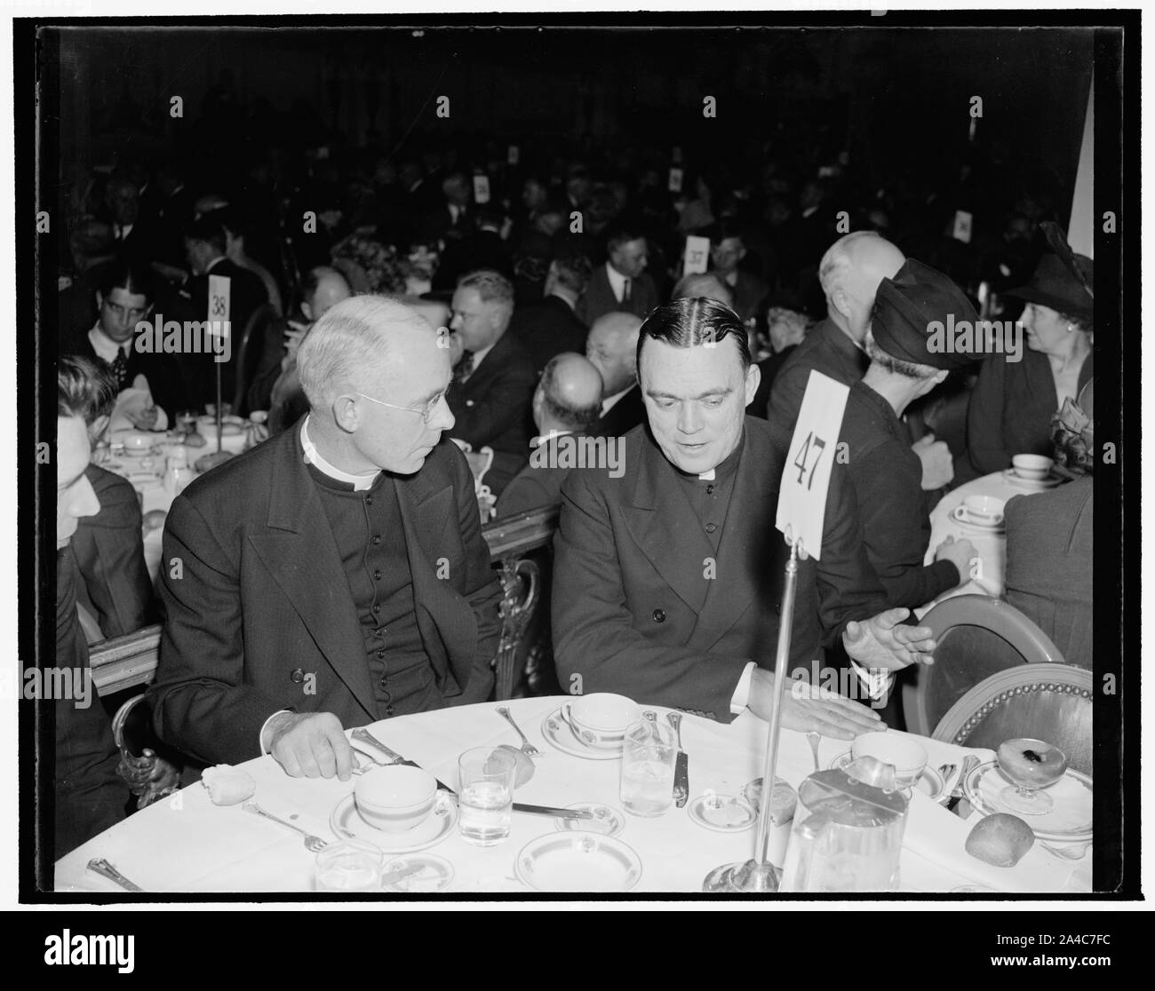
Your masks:
<path fill-rule="evenodd" d="M 1050 455 L 1051 417 L 1094 375 L 1093 262 L 1072 253 L 1057 225 L 1043 228 L 1055 253 L 1006 293 L 1027 303 L 1027 347 L 988 356 L 970 396 L 967 448 L 981 475 L 1009 468 L 1015 454 Z"/>

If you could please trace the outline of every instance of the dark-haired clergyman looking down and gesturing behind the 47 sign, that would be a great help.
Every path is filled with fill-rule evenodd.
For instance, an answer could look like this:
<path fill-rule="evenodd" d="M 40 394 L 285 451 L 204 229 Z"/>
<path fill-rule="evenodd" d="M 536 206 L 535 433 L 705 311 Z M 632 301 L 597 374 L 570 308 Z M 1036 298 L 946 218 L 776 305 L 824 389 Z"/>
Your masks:
<path fill-rule="evenodd" d="M 774 529 L 782 459 L 770 427 L 744 416 L 758 388 L 745 328 L 714 300 L 679 299 L 650 314 L 638 351 L 649 429 L 625 438 L 624 475 L 575 471 L 561 489 L 559 681 L 724 722 L 747 706 L 765 718 L 784 556 Z M 824 575 L 860 560 L 856 535 L 825 530 L 820 589 Z M 791 660 L 805 663 L 814 644 L 802 584 Z M 850 657 L 897 669 L 932 650 L 929 629 L 899 625 L 907 610 L 874 614 L 873 584 L 824 589 Z M 782 720 L 839 739 L 880 728 L 857 702 L 802 691 L 785 693 Z"/>

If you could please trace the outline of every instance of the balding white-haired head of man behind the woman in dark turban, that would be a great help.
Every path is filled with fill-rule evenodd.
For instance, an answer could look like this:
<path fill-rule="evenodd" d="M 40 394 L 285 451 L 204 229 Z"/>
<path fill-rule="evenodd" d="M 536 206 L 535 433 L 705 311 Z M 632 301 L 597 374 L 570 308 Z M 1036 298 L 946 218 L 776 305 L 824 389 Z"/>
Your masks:
<path fill-rule="evenodd" d="M 826 293 L 830 319 L 857 343 L 870 327 L 878 286 L 893 278 L 906 256 L 873 231 L 855 231 L 839 238 L 822 255 L 818 277 Z"/>

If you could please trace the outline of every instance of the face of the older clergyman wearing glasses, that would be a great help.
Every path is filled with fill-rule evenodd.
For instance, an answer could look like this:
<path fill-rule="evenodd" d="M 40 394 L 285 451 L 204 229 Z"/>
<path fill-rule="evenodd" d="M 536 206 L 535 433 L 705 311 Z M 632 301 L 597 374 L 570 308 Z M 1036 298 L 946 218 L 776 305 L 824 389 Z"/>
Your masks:
<path fill-rule="evenodd" d="M 359 417 L 353 445 L 372 464 L 398 475 L 419 470 L 441 434 L 453 429 L 454 418 L 444 393 L 449 387 L 449 350 L 437 345 L 437 334 L 398 334 L 390 340 L 385 360 L 356 386 L 375 400 L 404 409 L 393 409 L 356 396 Z M 422 419 L 437 398 L 430 422 Z"/>

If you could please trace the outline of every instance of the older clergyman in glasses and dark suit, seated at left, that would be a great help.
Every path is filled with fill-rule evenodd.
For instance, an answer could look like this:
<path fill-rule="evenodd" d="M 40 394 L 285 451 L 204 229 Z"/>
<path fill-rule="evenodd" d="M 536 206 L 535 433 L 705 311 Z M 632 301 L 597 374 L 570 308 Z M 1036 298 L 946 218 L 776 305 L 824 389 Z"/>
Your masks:
<path fill-rule="evenodd" d="M 200 760 L 345 781 L 344 728 L 489 698 L 501 587 L 429 321 L 355 297 L 297 364 L 310 415 L 172 504 L 149 700 Z"/>

